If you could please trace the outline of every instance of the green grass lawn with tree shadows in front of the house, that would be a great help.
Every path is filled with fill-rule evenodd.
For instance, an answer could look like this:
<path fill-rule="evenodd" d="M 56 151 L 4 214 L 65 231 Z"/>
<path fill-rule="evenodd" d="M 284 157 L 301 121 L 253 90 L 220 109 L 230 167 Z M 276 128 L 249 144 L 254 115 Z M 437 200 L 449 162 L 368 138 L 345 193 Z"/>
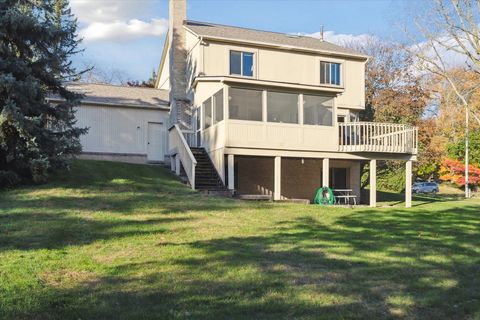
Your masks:
<path fill-rule="evenodd" d="M 241 202 L 94 161 L 55 181 L 0 193 L 0 319 L 480 319 L 478 199 Z"/>

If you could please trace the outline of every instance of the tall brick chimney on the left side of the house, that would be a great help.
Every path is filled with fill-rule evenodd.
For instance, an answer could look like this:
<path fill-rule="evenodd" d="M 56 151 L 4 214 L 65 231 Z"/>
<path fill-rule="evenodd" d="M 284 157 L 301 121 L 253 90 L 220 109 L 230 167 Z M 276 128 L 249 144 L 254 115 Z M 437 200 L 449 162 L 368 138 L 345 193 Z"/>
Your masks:
<path fill-rule="evenodd" d="M 183 27 L 187 19 L 187 1 L 170 0 L 169 10 L 170 124 L 191 129 L 192 107 L 187 98 L 187 48 Z"/>

